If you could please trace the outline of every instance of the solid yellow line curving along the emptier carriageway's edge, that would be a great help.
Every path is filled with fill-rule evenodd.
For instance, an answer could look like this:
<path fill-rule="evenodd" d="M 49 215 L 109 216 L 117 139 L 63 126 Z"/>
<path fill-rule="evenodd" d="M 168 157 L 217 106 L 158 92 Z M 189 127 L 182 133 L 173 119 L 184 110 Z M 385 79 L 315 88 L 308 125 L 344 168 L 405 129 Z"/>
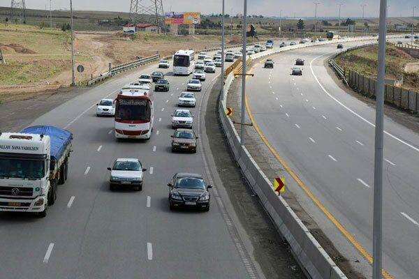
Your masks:
<path fill-rule="evenodd" d="M 260 62 L 256 63 L 255 65 L 253 65 L 250 70 L 249 73 L 251 73 L 253 71 L 253 69 L 258 66 L 260 64 Z M 247 76 L 245 76 L 245 78 L 247 79 Z M 329 220 L 332 221 L 333 224 L 335 224 L 335 226 L 337 227 L 337 229 L 339 229 L 339 231 L 344 234 L 344 236 L 346 236 L 346 239 L 348 239 L 349 242 L 352 243 L 353 246 L 355 246 L 355 248 L 360 251 L 360 253 L 362 254 L 362 256 L 365 257 L 365 259 L 367 259 L 367 261 L 372 264 L 372 256 L 369 255 L 369 252 L 367 252 L 367 250 L 365 250 L 365 248 L 361 245 L 361 243 L 359 243 L 350 232 L 348 232 L 348 230 L 346 230 L 344 228 L 343 225 L 341 225 L 341 223 L 339 223 L 339 221 L 335 218 L 335 216 L 332 215 L 332 213 L 330 213 L 330 211 L 328 211 L 328 209 L 325 208 L 325 206 L 323 206 L 323 204 L 318 200 L 318 198 L 311 192 L 311 190 L 309 190 L 309 188 L 301 181 L 301 179 L 297 176 L 297 174 L 295 174 L 295 172 L 293 172 L 293 169 L 291 169 L 291 167 L 288 166 L 288 164 L 286 163 L 286 161 L 281 158 L 281 156 L 279 156 L 279 154 L 277 153 L 277 151 L 272 147 L 272 145 L 267 141 L 265 135 L 263 135 L 263 133 L 260 131 L 258 124 L 256 123 L 255 119 L 253 118 L 253 114 L 251 114 L 251 110 L 250 110 L 250 106 L 247 100 L 247 90 L 246 90 L 246 97 L 245 97 L 245 102 L 246 102 L 246 109 L 247 109 L 247 113 L 249 114 L 251 123 L 253 123 L 253 127 L 256 129 L 256 132 L 258 132 L 260 138 L 263 140 L 263 142 L 265 142 L 267 148 L 270 149 L 270 151 L 272 152 L 272 154 L 274 154 L 274 156 L 277 158 L 277 160 L 279 160 L 279 163 L 281 163 L 281 165 L 284 166 L 284 168 L 286 169 L 286 171 L 291 174 L 291 176 L 293 176 L 293 179 L 298 183 L 298 185 L 302 188 L 302 190 L 304 190 L 304 192 L 311 198 L 311 200 L 318 206 L 319 209 L 321 209 L 321 211 L 323 211 L 323 213 L 325 213 L 325 216 L 328 216 Z M 385 279 L 391 279 L 392 277 L 390 276 L 390 274 L 383 269 L 383 277 Z"/>

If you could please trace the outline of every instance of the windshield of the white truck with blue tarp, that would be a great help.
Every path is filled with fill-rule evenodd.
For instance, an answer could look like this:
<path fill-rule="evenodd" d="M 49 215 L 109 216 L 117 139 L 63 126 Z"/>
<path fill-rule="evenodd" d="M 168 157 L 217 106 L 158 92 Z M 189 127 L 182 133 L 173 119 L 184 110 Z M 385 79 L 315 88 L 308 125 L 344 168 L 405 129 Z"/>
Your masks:
<path fill-rule="evenodd" d="M 45 161 L 0 158 L 0 177 L 41 179 L 45 176 Z"/>

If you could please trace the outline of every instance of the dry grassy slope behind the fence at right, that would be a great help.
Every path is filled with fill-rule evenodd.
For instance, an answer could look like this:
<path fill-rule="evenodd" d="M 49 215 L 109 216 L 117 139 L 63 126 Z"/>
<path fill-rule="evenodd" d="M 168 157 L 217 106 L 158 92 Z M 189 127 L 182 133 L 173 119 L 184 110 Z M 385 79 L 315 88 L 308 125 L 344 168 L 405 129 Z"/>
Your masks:
<path fill-rule="evenodd" d="M 376 77 L 378 67 L 378 48 L 362 47 L 358 50 L 351 50 L 336 57 L 335 61 L 346 70 L 355 70 L 356 72 Z M 385 77 L 392 80 L 399 80 L 403 77 L 403 87 L 418 91 L 419 71 L 418 73 L 404 73 L 406 63 L 418 62 L 406 52 L 397 49 L 397 47 L 387 46 L 385 50 Z"/>

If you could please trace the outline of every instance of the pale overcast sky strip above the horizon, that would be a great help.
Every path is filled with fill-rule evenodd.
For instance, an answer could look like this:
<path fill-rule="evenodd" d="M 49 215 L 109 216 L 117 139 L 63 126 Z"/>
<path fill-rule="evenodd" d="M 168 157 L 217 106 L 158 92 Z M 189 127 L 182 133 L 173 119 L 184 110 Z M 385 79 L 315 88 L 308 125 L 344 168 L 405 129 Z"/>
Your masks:
<path fill-rule="evenodd" d="M 154 0 L 142 0 L 154 2 Z M 198 11 L 203 14 L 221 13 L 221 0 L 162 0 L 165 11 Z M 225 0 L 226 13 L 233 15 L 243 13 L 243 0 Z M 362 17 L 362 5 L 365 6 L 365 17 L 378 17 L 379 0 L 248 0 L 247 13 L 265 16 L 279 16 L 282 10 L 283 17 L 314 17 L 314 2 L 317 6 L 317 17 L 337 17 L 339 6 L 341 17 Z M 389 17 L 409 17 L 412 7 L 416 17 L 419 17 L 419 0 L 388 0 Z M 45 9 L 50 6 L 50 0 L 26 0 L 27 8 Z M 131 0 L 73 0 L 75 10 L 110 10 L 129 12 Z M 219 6 L 216 6 L 219 3 Z M 0 6 L 10 6 L 10 0 L 0 0 Z M 52 0 L 52 9 L 69 8 L 69 0 Z"/>

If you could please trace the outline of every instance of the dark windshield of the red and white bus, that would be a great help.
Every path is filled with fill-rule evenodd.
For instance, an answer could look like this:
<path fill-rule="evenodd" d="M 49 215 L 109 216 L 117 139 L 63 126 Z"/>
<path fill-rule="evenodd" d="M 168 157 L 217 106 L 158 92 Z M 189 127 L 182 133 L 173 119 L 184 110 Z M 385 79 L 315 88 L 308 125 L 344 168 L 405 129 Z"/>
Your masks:
<path fill-rule="evenodd" d="M 117 99 L 115 105 L 115 119 L 149 121 L 151 111 L 150 100 L 138 98 Z"/>

